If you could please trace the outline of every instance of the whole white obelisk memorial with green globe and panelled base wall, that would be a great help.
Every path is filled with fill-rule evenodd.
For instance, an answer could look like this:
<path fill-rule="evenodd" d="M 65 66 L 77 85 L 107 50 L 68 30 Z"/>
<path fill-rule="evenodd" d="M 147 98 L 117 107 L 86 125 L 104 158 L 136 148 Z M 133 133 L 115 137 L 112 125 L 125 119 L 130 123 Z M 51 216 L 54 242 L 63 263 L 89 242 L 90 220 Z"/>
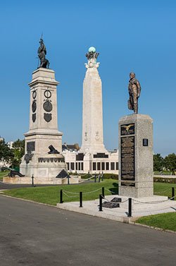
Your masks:
<path fill-rule="evenodd" d="M 99 76 L 99 53 L 94 47 L 86 54 L 87 68 L 83 82 L 82 146 L 79 152 L 66 152 L 68 169 L 78 173 L 118 174 L 118 152 L 108 152 L 103 145 L 102 84 Z"/>

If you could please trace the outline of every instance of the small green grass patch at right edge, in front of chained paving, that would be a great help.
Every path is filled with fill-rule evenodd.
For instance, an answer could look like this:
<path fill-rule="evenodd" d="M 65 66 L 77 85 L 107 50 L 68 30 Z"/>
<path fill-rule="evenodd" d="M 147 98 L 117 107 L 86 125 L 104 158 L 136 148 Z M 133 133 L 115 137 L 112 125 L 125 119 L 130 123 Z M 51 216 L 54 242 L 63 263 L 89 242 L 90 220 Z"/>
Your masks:
<path fill-rule="evenodd" d="M 136 222 L 139 224 L 146 224 L 149 226 L 176 231 L 176 212 L 145 216 L 137 219 Z"/>

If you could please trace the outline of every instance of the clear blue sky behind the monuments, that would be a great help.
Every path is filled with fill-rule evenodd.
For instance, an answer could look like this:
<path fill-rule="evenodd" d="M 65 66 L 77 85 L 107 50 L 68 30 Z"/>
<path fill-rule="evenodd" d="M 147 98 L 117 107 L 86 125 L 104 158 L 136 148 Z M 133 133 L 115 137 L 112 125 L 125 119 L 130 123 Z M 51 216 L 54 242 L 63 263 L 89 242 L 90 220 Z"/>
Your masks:
<path fill-rule="evenodd" d="M 30 90 L 39 37 L 56 71 L 63 142 L 82 141 L 82 82 L 90 46 L 99 55 L 106 148 L 118 147 L 129 73 L 142 85 L 139 113 L 153 118 L 154 152 L 176 153 L 176 1 L 1 1 L 0 135 L 22 139 L 29 128 Z"/>

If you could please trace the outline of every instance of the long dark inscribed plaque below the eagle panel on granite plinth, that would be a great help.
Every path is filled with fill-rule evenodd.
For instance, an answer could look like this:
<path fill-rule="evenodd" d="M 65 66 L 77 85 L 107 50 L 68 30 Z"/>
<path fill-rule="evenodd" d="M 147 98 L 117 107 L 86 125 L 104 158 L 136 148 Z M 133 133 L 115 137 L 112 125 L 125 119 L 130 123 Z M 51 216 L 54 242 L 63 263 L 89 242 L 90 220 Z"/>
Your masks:
<path fill-rule="evenodd" d="M 121 137 L 121 180 L 135 181 L 134 136 Z M 121 183 L 122 186 L 134 186 L 132 183 Z"/>

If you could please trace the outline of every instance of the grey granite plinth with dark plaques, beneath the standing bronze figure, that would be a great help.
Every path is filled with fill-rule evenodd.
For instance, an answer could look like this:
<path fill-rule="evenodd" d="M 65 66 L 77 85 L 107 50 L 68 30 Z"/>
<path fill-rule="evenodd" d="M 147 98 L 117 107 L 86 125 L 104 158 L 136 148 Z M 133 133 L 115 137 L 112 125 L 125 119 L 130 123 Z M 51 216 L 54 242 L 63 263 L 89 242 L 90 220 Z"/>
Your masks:
<path fill-rule="evenodd" d="M 153 121 L 148 115 L 119 121 L 119 195 L 153 196 Z"/>

